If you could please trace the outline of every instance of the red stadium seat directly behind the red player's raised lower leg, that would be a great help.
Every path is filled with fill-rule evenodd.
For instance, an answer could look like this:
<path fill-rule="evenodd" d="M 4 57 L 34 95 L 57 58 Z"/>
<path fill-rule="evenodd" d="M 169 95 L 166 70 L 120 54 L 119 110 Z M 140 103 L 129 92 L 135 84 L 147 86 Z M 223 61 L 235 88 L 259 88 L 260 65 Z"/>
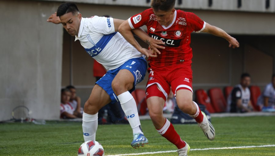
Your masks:
<path fill-rule="evenodd" d="M 215 113 L 214 108 L 211 106 L 210 98 L 204 89 L 196 90 L 196 101 L 203 104 L 209 113 Z"/>

